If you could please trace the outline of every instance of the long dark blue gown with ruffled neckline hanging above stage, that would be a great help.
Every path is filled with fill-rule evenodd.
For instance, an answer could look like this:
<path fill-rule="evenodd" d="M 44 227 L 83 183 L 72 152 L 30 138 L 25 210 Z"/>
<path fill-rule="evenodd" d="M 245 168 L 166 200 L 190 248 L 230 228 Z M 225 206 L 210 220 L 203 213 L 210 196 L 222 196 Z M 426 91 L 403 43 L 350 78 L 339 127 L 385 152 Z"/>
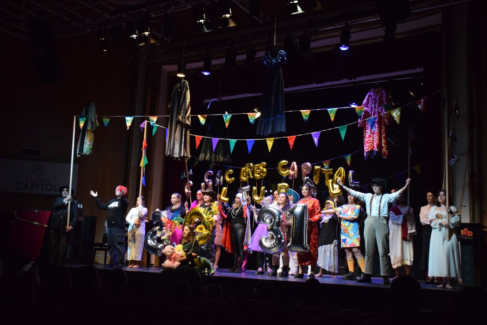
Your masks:
<path fill-rule="evenodd" d="M 276 57 L 267 52 L 264 56 L 266 80 L 262 92 L 261 117 L 257 123 L 256 134 L 279 135 L 286 132 L 284 116 L 284 80 L 281 67 L 286 61 L 286 52 L 280 50 Z"/>

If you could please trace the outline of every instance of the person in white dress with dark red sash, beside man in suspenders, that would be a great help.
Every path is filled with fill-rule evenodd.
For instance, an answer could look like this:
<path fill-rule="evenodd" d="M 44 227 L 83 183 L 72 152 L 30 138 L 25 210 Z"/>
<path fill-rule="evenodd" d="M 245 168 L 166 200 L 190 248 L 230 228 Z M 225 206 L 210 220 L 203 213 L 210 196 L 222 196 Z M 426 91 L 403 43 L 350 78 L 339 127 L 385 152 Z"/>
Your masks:
<path fill-rule="evenodd" d="M 416 223 L 412 207 L 406 205 L 406 196 L 397 198 L 397 204 L 391 207 L 389 212 L 389 251 L 391 264 L 396 272 L 395 278 L 401 274 L 401 266 L 404 265 L 406 275 L 409 275 L 414 261 L 414 249 L 412 236 L 416 234 Z"/>

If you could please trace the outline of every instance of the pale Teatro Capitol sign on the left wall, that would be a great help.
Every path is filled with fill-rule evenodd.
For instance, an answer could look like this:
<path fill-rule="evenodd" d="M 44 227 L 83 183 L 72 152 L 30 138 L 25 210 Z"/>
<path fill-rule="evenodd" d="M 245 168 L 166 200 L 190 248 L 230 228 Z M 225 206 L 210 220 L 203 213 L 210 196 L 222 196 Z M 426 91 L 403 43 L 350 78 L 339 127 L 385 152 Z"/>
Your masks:
<path fill-rule="evenodd" d="M 57 194 L 59 186 L 69 186 L 71 164 L 34 160 L 0 159 L 0 191 L 25 194 Z M 73 165 L 76 189 L 78 165 Z"/>

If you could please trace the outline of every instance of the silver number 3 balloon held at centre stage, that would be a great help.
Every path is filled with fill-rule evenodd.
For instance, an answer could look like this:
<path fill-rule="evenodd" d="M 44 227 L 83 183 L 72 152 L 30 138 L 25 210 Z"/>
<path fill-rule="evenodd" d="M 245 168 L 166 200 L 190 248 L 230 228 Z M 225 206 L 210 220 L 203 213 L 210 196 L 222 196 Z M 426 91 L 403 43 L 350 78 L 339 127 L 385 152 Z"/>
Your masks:
<path fill-rule="evenodd" d="M 267 237 L 261 237 L 259 244 L 266 253 L 279 253 L 286 243 L 282 225 L 282 210 L 277 205 L 266 205 L 257 214 L 258 223 L 267 223 Z"/>

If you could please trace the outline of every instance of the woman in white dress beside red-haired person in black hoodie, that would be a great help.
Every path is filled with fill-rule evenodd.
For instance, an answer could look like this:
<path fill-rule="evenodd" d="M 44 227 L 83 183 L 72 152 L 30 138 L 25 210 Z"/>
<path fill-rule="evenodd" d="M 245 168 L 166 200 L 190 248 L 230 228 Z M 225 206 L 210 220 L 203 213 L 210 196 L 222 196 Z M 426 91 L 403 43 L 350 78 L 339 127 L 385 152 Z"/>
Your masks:
<path fill-rule="evenodd" d="M 127 249 L 128 267 L 140 267 L 142 260 L 142 249 L 144 248 L 144 237 L 146 235 L 145 218 L 147 208 L 143 196 L 137 198 L 135 207 L 131 208 L 125 220 L 129 223 L 127 234 L 129 236 L 129 245 Z"/>

